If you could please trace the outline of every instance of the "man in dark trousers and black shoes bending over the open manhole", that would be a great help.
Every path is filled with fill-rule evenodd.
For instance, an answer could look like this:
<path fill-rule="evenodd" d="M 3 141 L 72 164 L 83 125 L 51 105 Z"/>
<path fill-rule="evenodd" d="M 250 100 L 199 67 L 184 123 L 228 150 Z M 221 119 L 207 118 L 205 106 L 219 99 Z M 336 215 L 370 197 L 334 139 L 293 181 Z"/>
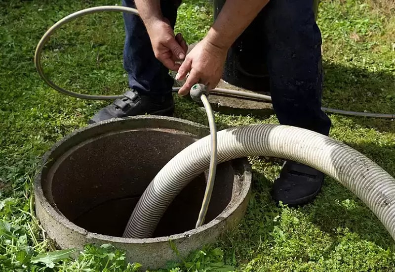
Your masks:
<path fill-rule="evenodd" d="M 172 115 L 173 80 L 168 69 L 178 71 L 176 79 L 187 78 L 180 95 L 198 82 L 215 88 L 229 47 L 256 18 L 263 29 L 257 35 L 267 42 L 273 107 L 280 124 L 329 134 L 330 119 L 320 109 L 321 34 L 312 0 L 227 0 L 205 38 L 188 55 L 182 35 L 173 31 L 180 3 L 122 0 L 123 5 L 137 7 L 141 17 L 124 14 L 123 57 L 131 91 L 100 110 L 91 123 L 146 113 Z M 286 161 L 274 182 L 273 198 L 288 205 L 306 204 L 322 183 L 322 173 Z"/>

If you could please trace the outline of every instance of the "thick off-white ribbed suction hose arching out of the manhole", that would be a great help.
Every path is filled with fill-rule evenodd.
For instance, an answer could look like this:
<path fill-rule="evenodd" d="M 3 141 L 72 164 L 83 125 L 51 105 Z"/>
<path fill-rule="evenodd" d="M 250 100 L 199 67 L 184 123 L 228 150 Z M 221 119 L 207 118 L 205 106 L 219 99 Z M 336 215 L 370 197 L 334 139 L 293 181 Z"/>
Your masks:
<path fill-rule="evenodd" d="M 342 183 L 363 201 L 395 239 L 395 179 L 350 146 L 328 136 L 283 125 L 258 124 L 218 132 L 218 163 L 269 156 L 309 165 Z M 210 136 L 186 147 L 150 183 L 124 237 L 148 238 L 176 195 L 208 169 Z"/>

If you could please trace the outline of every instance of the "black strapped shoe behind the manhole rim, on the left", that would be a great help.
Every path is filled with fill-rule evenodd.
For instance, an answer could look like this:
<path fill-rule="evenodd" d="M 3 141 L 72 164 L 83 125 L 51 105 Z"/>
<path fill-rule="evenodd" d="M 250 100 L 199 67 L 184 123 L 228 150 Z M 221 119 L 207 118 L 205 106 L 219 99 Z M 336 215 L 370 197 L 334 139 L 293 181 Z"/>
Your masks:
<path fill-rule="evenodd" d="M 123 93 L 122 98 L 102 108 L 90 120 L 89 124 L 97 123 L 111 118 L 123 118 L 136 115 L 162 115 L 172 116 L 174 100 L 172 94 L 164 97 L 140 95 L 137 91 L 129 90 Z"/>

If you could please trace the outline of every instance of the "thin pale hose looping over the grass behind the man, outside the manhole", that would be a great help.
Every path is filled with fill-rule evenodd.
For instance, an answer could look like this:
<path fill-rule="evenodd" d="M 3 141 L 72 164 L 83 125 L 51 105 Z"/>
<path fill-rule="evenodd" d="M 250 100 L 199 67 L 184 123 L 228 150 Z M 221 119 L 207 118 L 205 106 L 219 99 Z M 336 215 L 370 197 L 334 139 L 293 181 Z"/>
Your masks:
<path fill-rule="evenodd" d="M 90 7 L 86 9 L 79 10 L 77 12 L 71 13 L 67 15 L 66 17 L 60 19 L 58 22 L 56 22 L 53 26 L 51 26 L 45 34 L 41 37 L 40 42 L 38 43 L 35 51 L 35 56 L 34 56 L 34 62 L 36 69 L 38 73 L 40 74 L 40 77 L 43 79 L 43 81 L 48 84 L 50 87 L 52 87 L 54 90 L 59 91 L 63 94 L 70 95 L 72 97 L 80 98 L 80 99 L 87 99 L 87 100 L 109 100 L 109 99 L 117 99 L 117 98 L 122 98 L 122 95 L 91 95 L 91 94 L 82 94 L 82 93 L 77 93 L 74 91 L 68 91 L 55 83 L 53 83 L 48 77 L 45 75 L 42 66 L 41 66 L 41 53 L 42 49 L 45 45 L 46 42 L 48 42 L 49 37 L 61 26 L 64 24 L 70 22 L 71 20 L 77 19 L 83 15 L 90 14 L 90 13 L 95 13 L 95 12 L 102 12 L 102 11 L 120 11 L 120 12 L 127 12 L 131 13 L 134 15 L 139 16 L 139 12 L 135 8 L 131 7 L 126 7 L 126 6 L 112 6 L 112 5 L 104 5 L 104 6 L 95 6 L 95 7 Z M 180 88 L 174 87 L 173 91 L 177 92 Z M 216 93 L 218 95 L 236 95 L 242 99 L 257 99 L 257 100 L 262 100 L 266 102 L 271 102 L 272 98 L 269 95 L 264 95 L 264 94 L 259 94 L 259 93 L 250 93 L 246 91 L 237 91 L 237 90 L 228 90 L 228 89 L 221 89 L 221 88 L 216 88 L 212 90 L 211 92 Z M 349 115 L 349 116 L 363 116 L 363 117 L 374 117 L 374 118 L 385 118 L 385 119 L 394 119 L 395 118 L 395 113 L 390 114 L 390 113 L 369 113 L 369 112 L 355 112 L 355 111 L 346 111 L 346 110 L 339 110 L 339 109 L 333 109 L 333 108 L 326 108 L 322 107 L 321 108 L 325 112 L 329 113 L 336 113 L 336 114 L 341 114 L 341 115 Z"/>

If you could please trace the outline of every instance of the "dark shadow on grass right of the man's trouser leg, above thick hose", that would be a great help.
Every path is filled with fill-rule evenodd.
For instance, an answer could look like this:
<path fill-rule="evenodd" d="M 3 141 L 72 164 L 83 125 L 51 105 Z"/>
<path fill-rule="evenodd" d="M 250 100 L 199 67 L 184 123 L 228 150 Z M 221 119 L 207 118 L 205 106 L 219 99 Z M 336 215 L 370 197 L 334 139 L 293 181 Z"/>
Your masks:
<path fill-rule="evenodd" d="M 322 105 L 348 111 L 395 114 L 395 76 L 339 64 L 324 63 Z M 383 132 L 395 132 L 391 119 L 351 117 L 353 122 Z"/>

